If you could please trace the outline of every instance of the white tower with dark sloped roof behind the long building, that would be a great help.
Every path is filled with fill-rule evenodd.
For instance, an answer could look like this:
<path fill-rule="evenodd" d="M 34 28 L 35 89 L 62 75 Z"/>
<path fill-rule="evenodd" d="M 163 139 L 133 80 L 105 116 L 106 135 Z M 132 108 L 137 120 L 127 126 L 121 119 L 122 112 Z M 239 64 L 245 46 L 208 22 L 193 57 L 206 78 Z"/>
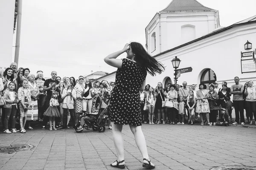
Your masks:
<path fill-rule="evenodd" d="M 152 56 L 209 34 L 220 27 L 217 10 L 197 0 L 172 0 L 145 28 L 146 47 Z"/>

